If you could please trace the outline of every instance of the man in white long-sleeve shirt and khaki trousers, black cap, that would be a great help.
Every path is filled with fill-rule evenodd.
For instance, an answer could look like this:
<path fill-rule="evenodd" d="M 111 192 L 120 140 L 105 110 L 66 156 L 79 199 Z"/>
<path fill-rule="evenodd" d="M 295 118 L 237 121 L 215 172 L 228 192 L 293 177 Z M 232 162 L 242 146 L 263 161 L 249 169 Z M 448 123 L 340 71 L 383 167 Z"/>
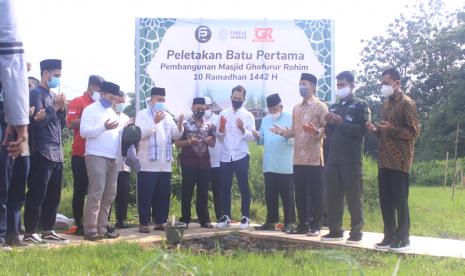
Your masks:
<path fill-rule="evenodd" d="M 111 108 L 118 93 L 118 85 L 104 81 L 100 99 L 86 107 L 81 118 L 81 136 L 87 139 L 85 158 L 89 177 L 84 206 L 84 237 L 92 241 L 119 236 L 107 231 L 108 213 L 116 195 L 116 158 L 123 127 Z"/>

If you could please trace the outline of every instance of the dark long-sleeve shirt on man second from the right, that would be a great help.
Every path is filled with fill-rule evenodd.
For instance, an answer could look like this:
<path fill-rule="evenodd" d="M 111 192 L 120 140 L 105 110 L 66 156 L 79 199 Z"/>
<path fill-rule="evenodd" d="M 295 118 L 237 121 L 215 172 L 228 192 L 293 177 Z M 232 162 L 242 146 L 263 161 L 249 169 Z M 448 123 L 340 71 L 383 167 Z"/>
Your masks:
<path fill-rule="evenodd" d="M 368 105 L 356 98 L 333 104 L 329 111 L 342 118 L 342 123 L 327 124 L 325 129 L 329 144 L 328 160 L 330 165 L 361 165 L 365 123 L 370 121 Z"/>

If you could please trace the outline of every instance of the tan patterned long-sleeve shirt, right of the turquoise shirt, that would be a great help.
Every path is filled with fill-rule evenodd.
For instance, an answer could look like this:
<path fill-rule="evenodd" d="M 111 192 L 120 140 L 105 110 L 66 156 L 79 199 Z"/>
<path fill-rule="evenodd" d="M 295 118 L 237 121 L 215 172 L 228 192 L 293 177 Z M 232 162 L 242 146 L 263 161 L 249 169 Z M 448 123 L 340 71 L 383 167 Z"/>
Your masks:
<path fill-rule="evenodd" d="M 328 107 L 312 98 L 296 105 L 292 111 L 292 128 L 285 131 L 286 137 L 294 137 L 294 165 L 323 166 L 323 137 Z M 311 122 L 318 129 L 318 135 L 305 132 L 302 126 Z"/>

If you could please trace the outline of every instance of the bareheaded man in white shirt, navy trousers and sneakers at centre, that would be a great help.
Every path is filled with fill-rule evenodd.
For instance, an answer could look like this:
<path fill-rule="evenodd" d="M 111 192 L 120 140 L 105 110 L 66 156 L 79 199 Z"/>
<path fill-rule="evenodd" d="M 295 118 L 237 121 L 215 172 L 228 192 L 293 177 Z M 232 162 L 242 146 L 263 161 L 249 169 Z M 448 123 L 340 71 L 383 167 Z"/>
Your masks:
<path fill-rule="evenodd" d="M 231 222 L 231 188 L 233 174 L 236 174 L 237 184 L 241 193 L 241 229 L 249 228 L 250 191 L 249 191 L 249 142 L 254 141 L 252 132 L 255 130 L 255 120 L 249 111 L 243 107 L 246 90 L 243 86 L 232 89 L 232 108 L 220 113 L 217 138 L 221 145 L 220 170 L 223 184 L 223 216 L 218 227 L 226 227 Z"/>

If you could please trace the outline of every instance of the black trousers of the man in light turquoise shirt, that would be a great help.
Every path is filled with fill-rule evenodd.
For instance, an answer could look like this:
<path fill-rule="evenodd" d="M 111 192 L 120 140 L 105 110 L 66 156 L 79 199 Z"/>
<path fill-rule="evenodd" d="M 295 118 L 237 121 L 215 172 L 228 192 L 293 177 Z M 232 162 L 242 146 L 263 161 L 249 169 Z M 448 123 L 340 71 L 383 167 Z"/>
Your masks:
<path fill-rule="evenodd" d="M 267 172 L 265 177 L 266 222 L 279 222 L 279 197 L 283 203 L 284 224 L 295 222 L 292 174 Z"/>

